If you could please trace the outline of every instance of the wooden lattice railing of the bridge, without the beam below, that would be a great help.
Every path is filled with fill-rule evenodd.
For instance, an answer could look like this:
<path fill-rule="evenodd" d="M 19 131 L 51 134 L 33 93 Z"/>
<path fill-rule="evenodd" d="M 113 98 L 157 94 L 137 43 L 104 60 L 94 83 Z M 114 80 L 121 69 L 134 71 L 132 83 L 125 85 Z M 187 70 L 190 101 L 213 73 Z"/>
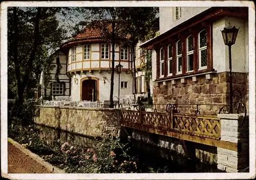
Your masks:
<path fill-rule="evenodd" d="M 138 125 L 138 128 L 145 126 L 210 139 L 221 137 L 221 121 L 212 115 L 182 114 L 176 110 L 169 110 L 166 113 L 145 112 L 142 109 L 121 110 L 121 121 Z"/>

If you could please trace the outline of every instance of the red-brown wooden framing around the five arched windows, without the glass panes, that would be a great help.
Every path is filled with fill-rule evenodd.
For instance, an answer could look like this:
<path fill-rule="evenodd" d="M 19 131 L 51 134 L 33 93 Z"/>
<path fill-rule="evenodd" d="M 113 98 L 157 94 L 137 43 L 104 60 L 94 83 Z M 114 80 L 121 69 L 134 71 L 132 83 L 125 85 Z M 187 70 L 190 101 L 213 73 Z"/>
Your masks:
<path fill-rule="evenodd" d="M 202 50 L 206 50 L 206 66 L 201 68 L 201 59 L 199 53 L 201 53 L 199 50 L 201 50 L 200 47 L 200 36 L 199 33 L 201 34 L 205 30 L 205 37 L 206 41 L 204 41 L 204 46 L 201 48 Z M 195 25 L 195 27 L 191 27 L 189 29 L 183 30 L 182 32 L 179 32 L 174 35 L 168 36 L 167 39 L 160 41 L 159 43 L 155 44 L 155 49 L 157 52 L 157 68 L 156 68 L 156 81 L 158 80 L 168 80 L 168 79 L 173 79 L 173 78 L 179 78 L 182 76 L 186 75 L 193 75 L 193 74 L 198 74 L 202 72 L 209 72 L 209 71 L 214 71 L 213 68 L 213 57 L 212 57 L 212 23 L 199 23 Z M 188 51 L 187 48 L 187 38 L 189 36 L 193 36 L 193 71 L 187 71 L 187 64 L 188 64 L 188 58 L 187 58 L 187 52 L 192 54 L 192 50 L 190 48 L 190 51 Z M 202 34 L 201 34 L 201 39 L 202 39 Z M 181 41 L 181 55 L 178 55 L 178 58 L 181 56 L 182 57 L 182 69 L 181 71 L 178 72 L 178 58 L 177 58 L 177 44 L 179 43 L 179 40 Z M 177 43 L 178 42 L 178 43 Z M 190 41 L 191 42 L 191 41 Z M 173 46 L 173 74 L 169 75 L 169 56 L 168 51 L 169 51 L 169 45 L 172 44 Z M 180 44 L 179 44 L 180 45 Z M 191 47 L 191 46 L 190 46 Z M 164 53 L 164 57 L 167 57 L 164 61 L 164 76 L 160 75 L 160 70 L 161 70 L 161 63 L 160 63 L 160 49 L 164 48 L 166 52 Z M 205 52 L 204 52 L 205 53 Z M 189 55 L 189 54 L 188 54 Z M 203 54 L 205 55 L 205 54 Z M 191 56 L 191 55 L 189 55 Z M 190 57 L 192 58 L 192 57 Z M 190 62 L 191 64 L 191 62 Z M 177 73 L 178 72 L 178 73 Z"/>

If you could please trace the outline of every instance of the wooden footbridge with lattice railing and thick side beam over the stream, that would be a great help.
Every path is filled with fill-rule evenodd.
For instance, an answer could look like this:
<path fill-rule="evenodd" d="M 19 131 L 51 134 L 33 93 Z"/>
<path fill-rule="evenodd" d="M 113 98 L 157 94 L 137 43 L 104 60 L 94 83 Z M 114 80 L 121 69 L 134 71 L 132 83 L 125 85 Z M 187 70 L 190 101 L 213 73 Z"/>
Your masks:
<path fill-rule="evenodd" d="M 181 114 L 176 110 L 166 113 L 121 110 L 120 123 L 148 133 L 238 150 L 237 143 L 220 140 L 221 120 L 217 116 Z"/>

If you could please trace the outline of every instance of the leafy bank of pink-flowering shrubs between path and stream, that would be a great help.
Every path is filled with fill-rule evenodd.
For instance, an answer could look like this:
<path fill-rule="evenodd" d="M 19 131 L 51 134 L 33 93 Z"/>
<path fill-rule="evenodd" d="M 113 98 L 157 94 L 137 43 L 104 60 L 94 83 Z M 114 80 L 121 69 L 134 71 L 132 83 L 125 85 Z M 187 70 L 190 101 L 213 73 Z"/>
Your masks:
<path fill-rule="evenodd" d="M 74 147 L 60 140 L 42 140 L 34 125 L 24 127 L 17 123 L 9 126 L 8 136 L 68 173 L 166 172 L 165 168 L 147 167 L 137 156 L 130 155 L 129 145 L 119 138 L 97 140 L 94 147 Z"/>

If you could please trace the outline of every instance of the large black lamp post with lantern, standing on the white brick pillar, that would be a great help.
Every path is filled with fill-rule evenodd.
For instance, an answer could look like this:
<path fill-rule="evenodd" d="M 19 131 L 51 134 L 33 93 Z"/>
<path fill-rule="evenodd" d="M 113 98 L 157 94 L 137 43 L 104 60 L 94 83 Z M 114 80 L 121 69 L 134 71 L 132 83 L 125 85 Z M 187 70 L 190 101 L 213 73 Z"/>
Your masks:
<path fill-rule="evenodd" d="M 221 31 L 225 45 L 228 46 L 229 55 L 229 94 L 230 94 L 230 113 L 233 113 L 233 87 L 232 87 L 232 64 L 231 64 L 231 45 L 236 42 L 239 29 L 231 27 L 228 22 L 228 27 Z"/>

